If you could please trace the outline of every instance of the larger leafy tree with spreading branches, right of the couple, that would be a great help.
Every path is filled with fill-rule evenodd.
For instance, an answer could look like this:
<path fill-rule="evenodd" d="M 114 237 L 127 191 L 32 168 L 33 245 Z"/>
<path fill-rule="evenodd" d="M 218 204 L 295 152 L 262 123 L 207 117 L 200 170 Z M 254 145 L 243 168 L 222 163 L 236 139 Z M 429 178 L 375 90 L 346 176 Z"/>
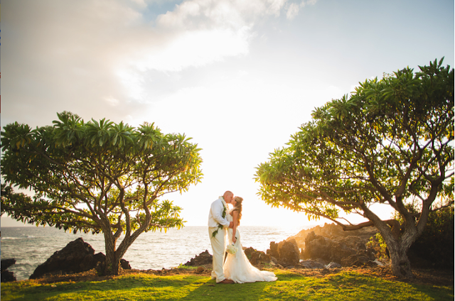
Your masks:
<path fill-rule="evenodd" d="M 412 277 L 407 250 L 435 200 L 453 203 L 454 69 L 441 64 L 366 80 L 349 97 L 316 108 L 287 146 L 257 167 L 258 195 L 344 230 L 376 226 L 392 272 Z M 410 202 L 419 204 L 417 213 L 407 209 Z M 381 220 L 372 204 L 390 205 L 402 224 Z M 369 221 L 346 224 L 341 210 Z"/>

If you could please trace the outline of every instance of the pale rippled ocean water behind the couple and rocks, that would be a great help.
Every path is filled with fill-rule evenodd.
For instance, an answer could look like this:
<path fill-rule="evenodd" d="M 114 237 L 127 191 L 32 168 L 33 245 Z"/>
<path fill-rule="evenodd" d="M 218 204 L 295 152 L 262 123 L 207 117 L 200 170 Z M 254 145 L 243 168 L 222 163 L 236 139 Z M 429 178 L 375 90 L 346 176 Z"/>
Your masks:
<path fill-rule="evenodd" d="M 269 248 L 270 241 L 283 241 L 301 230 L 284 226 L 239 227 L 242 246 L 252 246 L 264 252 Z M 15 258 L 16 264 L 8 270 L 14 272 L 17 280 L 28 279 L 38 265 L 79 237 L 89 243 L 95 253 L 106 253 L 102 234 L 72 234 L 42 226 L 1 227 L 1 259 Z M 207 226 L 185 226 L 183 229 L 168 229 L 167 232 L 141 234 L 123 258 L 137 270 L 161 270 L 186 263 L 205 250 L 213 254 Z"/>

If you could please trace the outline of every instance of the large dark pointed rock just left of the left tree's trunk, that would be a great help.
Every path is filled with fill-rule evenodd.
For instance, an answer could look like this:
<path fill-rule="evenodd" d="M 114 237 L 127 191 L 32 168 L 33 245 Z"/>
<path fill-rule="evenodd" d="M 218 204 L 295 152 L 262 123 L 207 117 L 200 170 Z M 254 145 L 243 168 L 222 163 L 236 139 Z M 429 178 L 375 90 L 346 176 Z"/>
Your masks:
<path fill-rule="evenodd" d="M 95 254 L 92 246 L 79 238 L 53 253 L 53 256 L 35 269 L 30 279 L 41 278 L 43 275 L 80 273 L 95 268 L 99 262 L 104 264 L 105 261 L 103 253 Z"/>

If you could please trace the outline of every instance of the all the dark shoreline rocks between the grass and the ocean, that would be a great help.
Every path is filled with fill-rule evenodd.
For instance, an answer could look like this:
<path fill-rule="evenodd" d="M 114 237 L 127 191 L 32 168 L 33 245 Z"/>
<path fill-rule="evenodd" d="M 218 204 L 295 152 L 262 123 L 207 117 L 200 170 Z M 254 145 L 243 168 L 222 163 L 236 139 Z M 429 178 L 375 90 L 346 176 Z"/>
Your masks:
<path fill-rule="evenodd" d="M 298 234 L 278 243 L 270 242 L 270 248 L 266 252 L 257 251 L 254 248 L 245 248 L 245 255 L 253 266 L 258 268 L 282 268 L 293 270 L 331 270 L 339 268 L 375 268 L 385 267 L 375 258 L 374 250 L 368 247 L 368 241 L 377 234 L 373 228 L 364 228 L 355 231 L 343 231 L 341 226 L 325 224 L 311 229 L 302 230 Z M 14 260 L 14 259 L 13 259 Z M 11 260 L 10 260 L 11 262 Z M 8 272 L 2 264 L 2 282 Z M 14 264 L 14 263 L 12 263 Z M 90 244 L 81 238 L 68 243 L 65 248 L 55 252 L 45 263 L 36 268 L 30 279 L 40 278 L 65 278 L 65 275 L 77 273 L 96 273 L 102 275 L 105 265 L 105 255 L 96 253 Z M 181 265 L 183 270 L 191 270 L 191 273 L 210 275 L 212 255 L 204 252 L 191 258 L 190 261 Z M 193 267 L 193 268 L 191 268 Z M 121 272 L 132 270 L 128 261 L 122 259 Z M 181 269 L 171 269 L 176 270 Z M 91 271 L 91 272 L 90 272 Z M 133 270 L 132 270 L 133 271 Z M 147 273 L 166 275 L 166 269 L 146 270 Z M 142 271 L 144 272 L 144 271 Z M 11 275 L 14 277 L 14 275 Z M 10 278 L 14 281 L 15 278 Z M 5 279 L 5 282 L 8 280 Z"/>

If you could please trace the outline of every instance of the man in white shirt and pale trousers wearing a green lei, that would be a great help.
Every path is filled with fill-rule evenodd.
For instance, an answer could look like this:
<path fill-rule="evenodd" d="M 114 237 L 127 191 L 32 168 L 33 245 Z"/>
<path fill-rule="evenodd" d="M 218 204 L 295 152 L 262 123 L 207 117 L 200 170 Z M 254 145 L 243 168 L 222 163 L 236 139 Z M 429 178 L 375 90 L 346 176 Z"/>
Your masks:
<path fill-rule="evenodd" d="M 228 214 L 228 206 L 234 199 L 234 194 L 230 191 L 225 192 L 223 197 L 219 197 L 210 206 L 208 214 L 208 235 L 213 249 L 213 268 L 212 279 L 216 278 L 216 283 L 234 283 L 234 281 L 226 279 L 223 272 L 223 262 L 225 256 L 225 235 L 226 228 L 232 228 L 232 221 L 226 219 Z M 221 229 L 219 225 L 223 226 Z M 213 233 L 215 233 L 215 236 Z"/>

